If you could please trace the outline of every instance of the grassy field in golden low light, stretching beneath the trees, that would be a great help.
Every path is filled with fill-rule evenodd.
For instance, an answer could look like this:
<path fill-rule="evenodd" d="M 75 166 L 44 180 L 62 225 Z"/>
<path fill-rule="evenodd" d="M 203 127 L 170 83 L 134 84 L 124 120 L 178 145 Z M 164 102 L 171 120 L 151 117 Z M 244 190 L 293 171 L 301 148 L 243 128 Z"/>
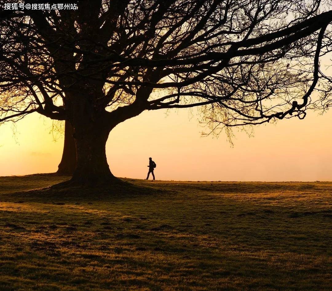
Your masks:
<path fill-rule="evenodd" d="M 332 182 L 63 180 L 0 177 L 0 290 L 332 290 Z"/>

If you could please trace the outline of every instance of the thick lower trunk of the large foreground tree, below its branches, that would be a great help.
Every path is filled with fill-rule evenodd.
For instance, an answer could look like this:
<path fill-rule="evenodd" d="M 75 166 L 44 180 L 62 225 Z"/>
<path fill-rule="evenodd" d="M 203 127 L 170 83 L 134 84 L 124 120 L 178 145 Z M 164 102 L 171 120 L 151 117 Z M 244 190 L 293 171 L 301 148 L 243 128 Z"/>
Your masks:
<path fill-rule="evenodd" d="M 109 131 L 102 126 L 78 134 L 75 130 L 77 166 L 71 182 L 77 185 L 100 186 L 120 182 L 110 171 L 106 159 Z"/>

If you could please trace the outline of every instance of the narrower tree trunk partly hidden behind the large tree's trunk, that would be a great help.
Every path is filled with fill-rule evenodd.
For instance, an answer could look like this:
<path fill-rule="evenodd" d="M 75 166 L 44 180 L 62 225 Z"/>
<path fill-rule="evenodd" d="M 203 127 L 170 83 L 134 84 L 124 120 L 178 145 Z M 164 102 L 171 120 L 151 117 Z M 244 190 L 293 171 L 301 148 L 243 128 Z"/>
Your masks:
<path fill-rule="evenodd" d="M 59 175 L 72 176 L 76 169 L 76 146 L 73 137 L 74 130 L 69 121 L 65 121 L 64 126 L 62 158 L 56 173 Z"/>

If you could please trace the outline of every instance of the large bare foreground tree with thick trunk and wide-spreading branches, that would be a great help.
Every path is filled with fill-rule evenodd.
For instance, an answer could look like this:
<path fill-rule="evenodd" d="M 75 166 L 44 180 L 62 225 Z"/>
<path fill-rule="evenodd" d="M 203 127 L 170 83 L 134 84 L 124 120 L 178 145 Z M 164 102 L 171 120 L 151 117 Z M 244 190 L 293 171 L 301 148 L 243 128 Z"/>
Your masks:
<path fill-rule="evenodd" d="M 315 90 L 329 97 L 319 57 L 330 49 L 331 20 L 329 1 L 319 0 L 94 0 L 78 1 L 77 10 L 4 10 L 0 121 L 38 112 L 69 122 L 71 183 L 116 182 L 108 135 L 144 110 L 198 107 L 212 130 L 303 118 Z"/>

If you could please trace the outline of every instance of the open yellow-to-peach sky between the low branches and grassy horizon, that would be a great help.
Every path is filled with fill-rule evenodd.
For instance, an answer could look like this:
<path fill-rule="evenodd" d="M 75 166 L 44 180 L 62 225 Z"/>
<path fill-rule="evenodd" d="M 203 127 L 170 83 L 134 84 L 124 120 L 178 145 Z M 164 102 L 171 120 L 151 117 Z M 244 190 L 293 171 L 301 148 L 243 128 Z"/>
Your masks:
<path fill-rule="evenodd" d="M 1 125 L 0 176 L 55 172 L 63 137 L 54 141 L 51 125 L 38 113 L 15 128 Z M 256 126 L 253 137 L 235 130 L 233 146 L 225 133 L 202 137 L 203 130 L 186 109 L 145 111 L 110 133 L 108 164 L 115 176 L 138 179 L 152 157 L 157 180 L 332 181 L 332 111 Z"/>

